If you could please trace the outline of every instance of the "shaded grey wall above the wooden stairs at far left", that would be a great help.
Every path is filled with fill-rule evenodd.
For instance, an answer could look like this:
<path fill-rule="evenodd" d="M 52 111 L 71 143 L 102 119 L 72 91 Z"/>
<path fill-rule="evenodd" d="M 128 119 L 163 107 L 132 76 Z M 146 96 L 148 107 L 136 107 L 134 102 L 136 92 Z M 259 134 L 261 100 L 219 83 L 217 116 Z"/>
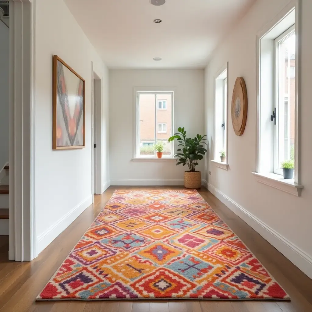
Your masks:
<path fill-rule="evenodd" d="M 0 170 L 9 161 L 9 27 L 0 21 Z"/>

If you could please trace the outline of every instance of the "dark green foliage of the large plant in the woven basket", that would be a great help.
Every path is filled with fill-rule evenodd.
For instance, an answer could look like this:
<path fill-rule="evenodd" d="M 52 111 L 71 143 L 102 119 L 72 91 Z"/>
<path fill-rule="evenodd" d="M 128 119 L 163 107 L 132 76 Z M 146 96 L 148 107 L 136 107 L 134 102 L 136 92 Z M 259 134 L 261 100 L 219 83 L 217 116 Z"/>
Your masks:
<path fill-rule="evenodd" d="M 177 149 L 178 153 L 174 154 L 174 157 L 179 158 L 177 165 L 183 164 L 183 166 L 188 165 L 190 172 L 195 172 L 195 167 L 198 165 L 198 160 L 203 158 L 203 155 L 207 153 L 207 149 L 204 148 L 202 144 L 207 144 L 204 141 L 206 135 L 201 136 L 197 134 L 194 139 L 186 137 L 186 131 L 184 127 L 178 128 L 178 132 L 175 133 L 172 137 L 168 139 L 168 142 L 174 141 L 174 139 L 178 140 L 178 146 L 181 148 Z"/>

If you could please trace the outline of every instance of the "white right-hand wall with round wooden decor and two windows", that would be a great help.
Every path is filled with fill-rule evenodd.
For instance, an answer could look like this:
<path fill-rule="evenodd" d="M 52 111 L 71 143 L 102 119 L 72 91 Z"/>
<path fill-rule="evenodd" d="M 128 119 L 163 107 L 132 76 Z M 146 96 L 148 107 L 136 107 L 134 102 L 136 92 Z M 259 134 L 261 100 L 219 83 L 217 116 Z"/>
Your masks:
<path fill-rule="evenodd" d="M 302 0 L 302 44 L 300 85 L 301 197 L 256 182 L 251 171 L 256 165 L 256 34 L 289 0 L 257 1 L 237 27 L 213 53 L 205 69 L 205 128 L 213 138 L 213 75 L 229 62 L 228 85 L 231 103 L 235 79 L 245 79 L 248 115 L 244 134 L 235 135 L 228 111 L 229 170 L 215 167 L 208 155 L 206 178 L 209 188 L 247 223 L 312 278 L 312 1 Z M 211 145 L 210 145 L 211 146 Z M 208 172 L 211 171 L 211 175 Z"/>

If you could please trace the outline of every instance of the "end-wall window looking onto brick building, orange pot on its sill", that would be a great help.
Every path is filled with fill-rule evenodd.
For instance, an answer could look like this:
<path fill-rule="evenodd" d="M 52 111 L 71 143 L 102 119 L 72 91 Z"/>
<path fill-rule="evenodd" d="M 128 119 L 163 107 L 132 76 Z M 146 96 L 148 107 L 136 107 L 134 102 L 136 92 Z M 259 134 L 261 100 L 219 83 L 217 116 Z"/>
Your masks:
<path fill-rule="evenodd" d="M 136 91 L 134 158 L 156 158 L 154 144 L 164 146 L 163 158 L 173 157 L 173 91 Z"/>

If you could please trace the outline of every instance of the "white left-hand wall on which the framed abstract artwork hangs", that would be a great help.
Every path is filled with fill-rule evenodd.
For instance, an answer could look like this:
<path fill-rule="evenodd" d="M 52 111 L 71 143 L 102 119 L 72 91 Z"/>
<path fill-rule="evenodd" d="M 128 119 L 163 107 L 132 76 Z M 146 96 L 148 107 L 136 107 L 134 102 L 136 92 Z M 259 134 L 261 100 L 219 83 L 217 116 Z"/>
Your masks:
<path fill-rule="evenodd" d="M 92 203 L 91 62 L 102 79 L 103 185 L 108 172 L 108 69 L 62 0 L 36 0 L 35 214 L 41 252 Z M 52 150 L 52 55 L 85 79 L 84 149 Z"/>

